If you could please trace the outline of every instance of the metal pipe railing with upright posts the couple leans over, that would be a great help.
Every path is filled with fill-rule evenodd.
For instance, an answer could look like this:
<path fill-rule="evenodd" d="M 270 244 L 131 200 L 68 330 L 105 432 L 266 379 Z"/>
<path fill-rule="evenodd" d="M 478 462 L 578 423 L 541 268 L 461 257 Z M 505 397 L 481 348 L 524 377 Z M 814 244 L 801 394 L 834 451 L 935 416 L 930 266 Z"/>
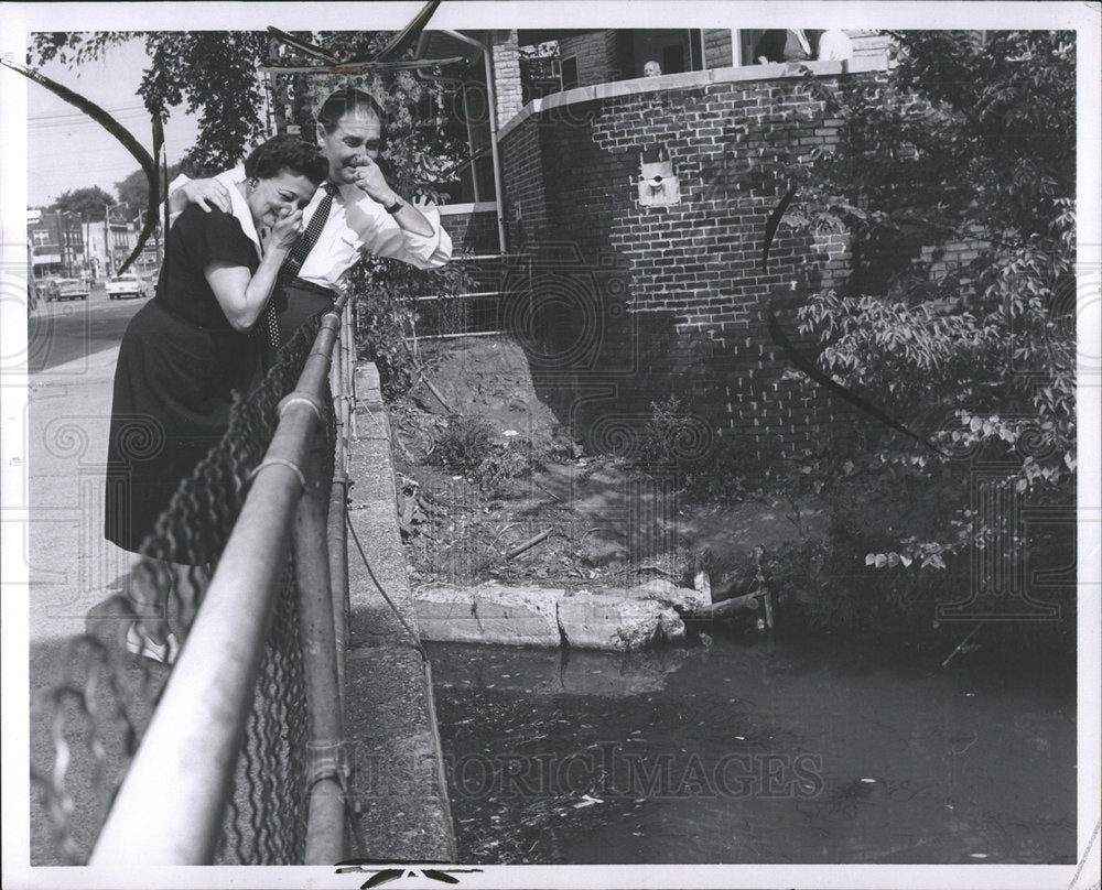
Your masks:
<path fill-rule="evenodd" d="M 271 444 L 248 473 L 244 506 L 90 865 L 344 856 L 354 351 L 342 314 L 344 300 L 322 316 L 298 383 L 279 402 Z"/>

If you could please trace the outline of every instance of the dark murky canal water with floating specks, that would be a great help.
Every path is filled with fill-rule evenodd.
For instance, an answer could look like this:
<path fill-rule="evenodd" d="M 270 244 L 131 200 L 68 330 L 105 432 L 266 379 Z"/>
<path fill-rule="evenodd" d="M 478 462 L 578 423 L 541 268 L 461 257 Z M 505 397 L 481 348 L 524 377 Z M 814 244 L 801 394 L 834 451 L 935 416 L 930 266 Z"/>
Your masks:
<path fill-rule="evenodd" d="M 1071 663 L 734 632 L 429 649 L 461 861 L 1076 859 Z"/>

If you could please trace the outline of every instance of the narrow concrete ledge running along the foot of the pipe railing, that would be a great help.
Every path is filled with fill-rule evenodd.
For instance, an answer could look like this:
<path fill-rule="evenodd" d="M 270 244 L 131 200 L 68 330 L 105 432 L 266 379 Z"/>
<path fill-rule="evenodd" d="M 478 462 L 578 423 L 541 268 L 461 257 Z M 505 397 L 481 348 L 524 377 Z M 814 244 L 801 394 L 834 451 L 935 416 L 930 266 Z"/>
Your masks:
<path fill-rule="evenodd" d="M 356 436 L 349 444 L 349 519 L 398 611 L 391 610 L 348 540 L 352 623 L 345 669 L 345 731 L 355 771 L 363 849 L 391 861 L 454 861 L 455 833 L 432 691 L 402 621 L 418 632 L 398 531 L 390 426 L 374 365 L 356 369 Z M 401 616 L 401 620 L 399 620 Z"/>

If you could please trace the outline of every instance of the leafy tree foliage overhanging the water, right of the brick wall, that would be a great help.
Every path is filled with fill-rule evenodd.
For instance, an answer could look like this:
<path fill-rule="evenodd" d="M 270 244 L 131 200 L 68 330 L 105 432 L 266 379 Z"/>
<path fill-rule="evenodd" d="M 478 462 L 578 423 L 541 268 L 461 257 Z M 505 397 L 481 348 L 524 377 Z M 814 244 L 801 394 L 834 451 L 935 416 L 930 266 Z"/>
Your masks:
<path fill-rule="evenodd" d="M 858 488 L 911 492 L 910 515 L 855 508 L 850 531 L 886 551 L 871 566 L 942 568 L 1007 532 L 1005 515 L 969 509 L 976 460 L 1005 466 L 1003 487 L 1033 503 L 1074 502 L 1076 45 L 1041 31 L 894 36 L 898 65 L 876 83 L 806 82 L 839 143 L 788 173 L 804 225 L 852 234 L 853 273 L 812 294 L 798 325 L 822 370 L 944 454 L 871 432 L 801 485 L 851 503 Z"/>

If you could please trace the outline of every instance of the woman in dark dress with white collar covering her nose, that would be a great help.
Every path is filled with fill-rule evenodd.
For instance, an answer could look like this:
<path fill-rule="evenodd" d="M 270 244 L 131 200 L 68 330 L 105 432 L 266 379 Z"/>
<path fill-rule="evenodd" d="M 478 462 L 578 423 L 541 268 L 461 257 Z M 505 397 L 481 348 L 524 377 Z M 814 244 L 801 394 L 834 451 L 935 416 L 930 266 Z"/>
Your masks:
<path fill-rule="evenodd" d="M 327 169 L 313 145 L 278 137 L 246 159 L 231 213 L 190 206 L 173 223 L 156 294 L 130 321 L 115 371 L 105 533 L 123 550 L 139 552 L 180 480 L 225 433 L 234 390 L 248 389 L 257 371 L 250 330 Z M 185 567 L 171 568 L 184 595 Z M 127 648 L 172 663 L 179 643 L 165 596 L 142 575 L 130 598 L 139 617 Z"/>

